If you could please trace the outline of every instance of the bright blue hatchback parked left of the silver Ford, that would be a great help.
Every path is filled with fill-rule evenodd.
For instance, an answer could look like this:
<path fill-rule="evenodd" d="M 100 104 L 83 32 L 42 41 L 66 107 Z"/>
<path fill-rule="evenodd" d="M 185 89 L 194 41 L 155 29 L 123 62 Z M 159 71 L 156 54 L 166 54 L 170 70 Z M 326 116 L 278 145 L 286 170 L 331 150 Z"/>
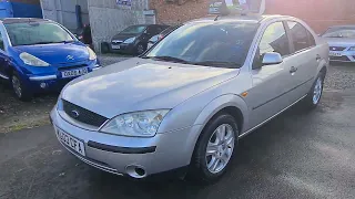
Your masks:
<path fill-rule="evenodd" d="M 28 101 L 61 90 L 69 81 L 100 69 L 95 53 L 61 24 L 45 19 L 0 21 L 0 77 Z"/>

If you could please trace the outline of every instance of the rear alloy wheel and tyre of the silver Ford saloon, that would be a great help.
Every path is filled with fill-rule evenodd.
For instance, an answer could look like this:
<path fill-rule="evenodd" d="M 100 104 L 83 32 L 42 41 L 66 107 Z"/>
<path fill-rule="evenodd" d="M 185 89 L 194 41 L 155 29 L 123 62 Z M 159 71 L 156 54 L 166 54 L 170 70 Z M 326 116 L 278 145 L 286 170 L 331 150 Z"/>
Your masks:
<path fill-rule="evenodd" d="M 325 72 L 321 72 L 315 78 L 307 96 L 304 98 L 303 103 L 306 108 L 313 109 L 317 107 L 317 105 L 320 104 L 323 95 L 324 80 L 325 80 Z"/>

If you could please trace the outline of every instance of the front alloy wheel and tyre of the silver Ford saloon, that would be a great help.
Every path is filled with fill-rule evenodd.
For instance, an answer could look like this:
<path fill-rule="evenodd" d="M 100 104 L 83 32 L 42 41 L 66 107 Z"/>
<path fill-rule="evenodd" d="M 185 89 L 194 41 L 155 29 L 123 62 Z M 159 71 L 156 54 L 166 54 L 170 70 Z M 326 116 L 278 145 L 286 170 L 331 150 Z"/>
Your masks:
<path fill-rule="evenodd" d="M 239 126 L 229 114 L 214 116 L 203 129 L 195 146 L 187 177 L 214 182 L 229 167 L 237 146 Z"/>

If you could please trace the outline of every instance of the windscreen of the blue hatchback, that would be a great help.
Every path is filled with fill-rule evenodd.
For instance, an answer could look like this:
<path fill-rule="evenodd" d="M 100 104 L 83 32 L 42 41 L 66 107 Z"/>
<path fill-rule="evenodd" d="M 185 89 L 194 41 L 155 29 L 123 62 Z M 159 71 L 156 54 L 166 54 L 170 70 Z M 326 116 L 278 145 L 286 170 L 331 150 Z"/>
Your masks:
<path fill-rule="evenodd" d="M 9 23 L 4 27 L 13 46 L 74 41 L 69 32 L 52 22 Z"/>

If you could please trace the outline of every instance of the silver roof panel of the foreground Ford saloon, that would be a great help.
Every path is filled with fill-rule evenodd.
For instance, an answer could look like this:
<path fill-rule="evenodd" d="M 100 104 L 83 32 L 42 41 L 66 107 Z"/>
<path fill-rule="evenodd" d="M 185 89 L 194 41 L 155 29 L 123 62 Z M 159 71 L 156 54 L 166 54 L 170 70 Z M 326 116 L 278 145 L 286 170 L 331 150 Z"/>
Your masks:
<path fill-rule="evenodd" d="M 292 18 L 288 15 L 261 15 L 261 14 L 246 14 L 246 15 L 242 15 L 242 14 L 232 14 L 232 15 L 219 15 L 217 20 L 216 15 L 214 17 L 209 17 L 209 18 L 202 18 L 202 19 L 196 19 L 196 20 L 192 20 L 190 22 L 209 22 L 209 21 L 240 21 L 240 22 L 246 22 L 246 23 L 262 23 L 263 21 L 266 20 L 272 20 L 272 19 L 277 19 L 277 18 Z"/>

